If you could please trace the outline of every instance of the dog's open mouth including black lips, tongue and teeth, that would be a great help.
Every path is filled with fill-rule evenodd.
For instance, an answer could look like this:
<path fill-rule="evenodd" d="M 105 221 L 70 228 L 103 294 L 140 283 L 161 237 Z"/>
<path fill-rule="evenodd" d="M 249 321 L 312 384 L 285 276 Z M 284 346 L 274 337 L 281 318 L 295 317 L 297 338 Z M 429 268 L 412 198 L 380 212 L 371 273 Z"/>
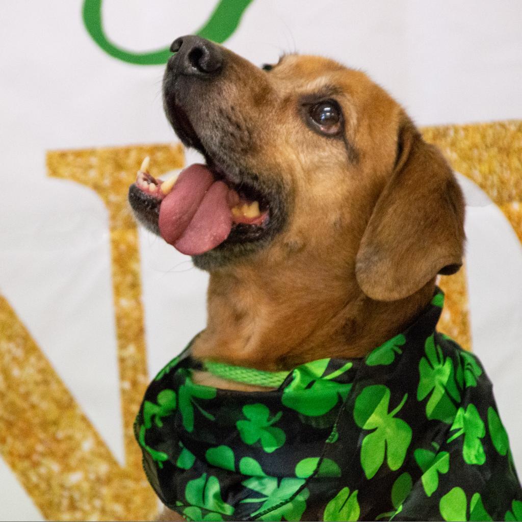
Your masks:
<path fill-rule="evenodd" d="M 129 189 L 139 221 L 198 259 L 210 251 L 233 257 L 252 252 L 281 231 L 286 212 L 278 182 L 262 182 L 257 173 L 238 164 L 241 160 L 231 164 L 209 153 L 174 96 L 165 94 L 165 113 L 182 143 L 198 150 L 206 164 L 190 165 L 176 180 L 161 181 L 150 175 L 145 161 Z M 230 152 L 224 151 L 226 156 Z"/>

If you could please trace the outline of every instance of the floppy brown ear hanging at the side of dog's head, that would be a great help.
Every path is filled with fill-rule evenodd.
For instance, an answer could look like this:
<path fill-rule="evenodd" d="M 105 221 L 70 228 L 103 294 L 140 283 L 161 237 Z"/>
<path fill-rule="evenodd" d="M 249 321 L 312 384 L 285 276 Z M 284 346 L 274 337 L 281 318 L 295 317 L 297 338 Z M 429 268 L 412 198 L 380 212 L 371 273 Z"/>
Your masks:
<path fill-rule="evenodd" d="M 441 152 L 402 117 L 397 158 L 363 234 L 355 265 L 370 298 L 395 301 L 462 265 L 464 198 Z"/>

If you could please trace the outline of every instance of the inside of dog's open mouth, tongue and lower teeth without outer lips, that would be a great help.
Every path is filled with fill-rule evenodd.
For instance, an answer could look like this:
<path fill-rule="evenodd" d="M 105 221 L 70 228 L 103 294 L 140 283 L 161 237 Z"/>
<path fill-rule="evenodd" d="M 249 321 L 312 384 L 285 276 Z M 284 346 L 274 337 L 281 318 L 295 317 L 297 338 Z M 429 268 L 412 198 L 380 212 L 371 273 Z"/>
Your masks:
<path fill-rule="evenodd" d="M 214 164 L 194 164 L 177 179 L 161 181 L 149 174 L 146 159 L 132 192 L 131 204 L 139 201 L 141 207 L 135 210 L 159 206 L 162 238 L 187 255 L 203 254 L 226 240 L 262 239 L 270 220 L 267 198 L 254 186 L 233 183 Z"/>

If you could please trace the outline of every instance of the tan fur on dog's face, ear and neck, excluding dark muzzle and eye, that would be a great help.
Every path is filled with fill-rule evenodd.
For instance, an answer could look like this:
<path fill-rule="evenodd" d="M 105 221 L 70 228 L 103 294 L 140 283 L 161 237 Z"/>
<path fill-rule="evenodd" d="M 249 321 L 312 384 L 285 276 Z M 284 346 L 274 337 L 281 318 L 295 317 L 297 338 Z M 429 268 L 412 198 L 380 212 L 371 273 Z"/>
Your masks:
<path fill-rule="evenodd" d="M 259 122 L 243 161 L 280 175 L 292 211 L 264 250 L 211 271 L 207 328 L 193 353 L 265 370 L 362 357 L 428 303 L 437 272 L 461 263 L 458 185 L 363 73 L 290 55 L 267 74 L 231 56 L 227 107 Z M 325 86 L 336 90 L 355 160 L 342 140 L 307 128 L 296 109 Z"/>

